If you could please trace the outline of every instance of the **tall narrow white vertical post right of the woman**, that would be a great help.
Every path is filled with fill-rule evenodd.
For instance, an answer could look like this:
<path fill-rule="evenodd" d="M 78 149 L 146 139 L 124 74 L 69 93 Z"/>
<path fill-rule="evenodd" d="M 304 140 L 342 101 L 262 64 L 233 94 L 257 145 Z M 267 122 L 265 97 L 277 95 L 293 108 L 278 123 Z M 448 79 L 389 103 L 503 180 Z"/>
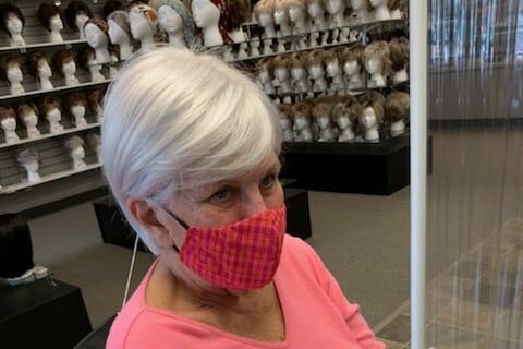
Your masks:
<path fill-rule="evenodd" d="M 428 0 L 410 2 L 411 348 L 425 349 Z"/>

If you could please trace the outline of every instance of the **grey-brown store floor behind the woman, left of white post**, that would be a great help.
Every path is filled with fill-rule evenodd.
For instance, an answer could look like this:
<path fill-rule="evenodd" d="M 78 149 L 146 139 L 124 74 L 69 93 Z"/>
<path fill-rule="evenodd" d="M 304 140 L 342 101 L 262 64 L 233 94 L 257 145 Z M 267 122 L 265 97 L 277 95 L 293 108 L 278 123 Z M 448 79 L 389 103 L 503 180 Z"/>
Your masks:
<path fill-rule="evenodd" d="M 390 196 L 309 192 L 307 242 L 376 326 L 409 298 L 409 189 Z M 90 203 L 29 222 L 35 261 L 82 289 L 93 326 L 121 306 L 131 251 L 104 244 Z M 133 289 L 151 256 L 139 253 Z"/>

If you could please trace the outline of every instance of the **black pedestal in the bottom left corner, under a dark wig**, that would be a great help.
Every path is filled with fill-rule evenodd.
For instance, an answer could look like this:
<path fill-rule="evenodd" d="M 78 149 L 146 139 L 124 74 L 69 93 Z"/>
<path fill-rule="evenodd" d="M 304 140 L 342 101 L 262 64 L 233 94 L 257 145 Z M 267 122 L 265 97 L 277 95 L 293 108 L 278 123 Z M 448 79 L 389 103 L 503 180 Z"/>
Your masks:
<path fill-rule="evenodd" d="M 92 330 L 80 289 L 49 279 L 0 288 L 0 347 L 71 349 Z"/>

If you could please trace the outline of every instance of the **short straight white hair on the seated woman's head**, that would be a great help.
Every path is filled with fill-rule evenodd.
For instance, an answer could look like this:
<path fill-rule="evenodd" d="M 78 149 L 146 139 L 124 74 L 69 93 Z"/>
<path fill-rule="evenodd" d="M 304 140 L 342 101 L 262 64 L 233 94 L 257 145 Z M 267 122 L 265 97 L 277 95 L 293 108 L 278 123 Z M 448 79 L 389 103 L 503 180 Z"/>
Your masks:
<path fill-rule="evenodd" d="M 156 255 L 160 249 L 126 208 L 129 197 L 168 205 L 179 190 L 233 179 L 280 154 L 278 112 L 241 71 L 188 49 L 134 57 L 104 101 L 101 158 L 113 195 Z"/>

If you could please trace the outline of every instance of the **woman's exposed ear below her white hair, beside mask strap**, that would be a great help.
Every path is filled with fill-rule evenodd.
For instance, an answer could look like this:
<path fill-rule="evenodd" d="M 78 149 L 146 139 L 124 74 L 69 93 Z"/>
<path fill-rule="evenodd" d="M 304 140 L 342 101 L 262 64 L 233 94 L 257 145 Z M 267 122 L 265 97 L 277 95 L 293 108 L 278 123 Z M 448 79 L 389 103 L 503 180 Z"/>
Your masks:
<path fill-rule="evenodd" d="M 126 206 L 134 219 L 144 227 L 158 245 L 170 249 L 174 242 L 169 233 L 166 215 L 149 201 L 130 197 Z"/>

